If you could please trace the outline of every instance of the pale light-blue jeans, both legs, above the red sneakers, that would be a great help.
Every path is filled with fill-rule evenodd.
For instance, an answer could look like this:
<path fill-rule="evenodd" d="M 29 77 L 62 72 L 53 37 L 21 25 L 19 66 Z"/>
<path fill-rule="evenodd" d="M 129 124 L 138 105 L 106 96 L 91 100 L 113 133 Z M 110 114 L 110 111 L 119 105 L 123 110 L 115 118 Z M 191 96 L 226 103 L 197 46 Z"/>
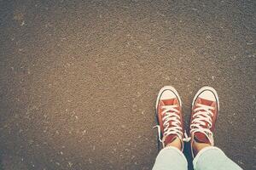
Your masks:
<path fill-rule="evenodd" d="M 193 161 L 195 170 L 241 170 L 224 152 L 217 147 L 206 147 L 195 156 Z M 153 170 L 186 170 L 188 161 L 177 148 L 169 146 L 160 150 L 156 157 Z"/>

